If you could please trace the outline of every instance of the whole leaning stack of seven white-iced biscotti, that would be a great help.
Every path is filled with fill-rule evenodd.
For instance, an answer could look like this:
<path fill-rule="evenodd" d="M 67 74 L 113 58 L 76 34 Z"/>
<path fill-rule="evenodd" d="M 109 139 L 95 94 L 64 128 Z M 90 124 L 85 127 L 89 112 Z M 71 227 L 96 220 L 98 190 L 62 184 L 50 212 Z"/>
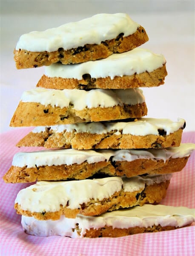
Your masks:
<path fill-rule="evenodd" d="M 26 233 L 115 237 L 195 220 L 193 209 L 152 205 L 195 145 L 181 144 L 184 119 L 143 117 L 138 87 L 159 86 L 167 74 L 163 55 L 139 48 L 146 41 L 143 27 L 121 13 L 20 37 L 17 68 L 48 66 L 10 123 L 35 126 L 17 146 L 47 148 L 15 154 L 3 177 L 37 181 L 15 200 Z"/>

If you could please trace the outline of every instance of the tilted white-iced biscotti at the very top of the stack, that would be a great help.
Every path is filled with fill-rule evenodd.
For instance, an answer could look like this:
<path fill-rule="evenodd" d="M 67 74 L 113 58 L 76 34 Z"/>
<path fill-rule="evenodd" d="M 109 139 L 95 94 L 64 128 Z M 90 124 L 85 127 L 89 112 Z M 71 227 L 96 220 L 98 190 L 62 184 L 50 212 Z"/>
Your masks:
<path fill-rule="evenodd" d="M 148 39 L 145 29 L 128 15 L 98 14 L 22 35 L 14 49 L 14 60 L 17 69 L 48 66 L 58 61 L 74 64 L 132 50 Z"/>

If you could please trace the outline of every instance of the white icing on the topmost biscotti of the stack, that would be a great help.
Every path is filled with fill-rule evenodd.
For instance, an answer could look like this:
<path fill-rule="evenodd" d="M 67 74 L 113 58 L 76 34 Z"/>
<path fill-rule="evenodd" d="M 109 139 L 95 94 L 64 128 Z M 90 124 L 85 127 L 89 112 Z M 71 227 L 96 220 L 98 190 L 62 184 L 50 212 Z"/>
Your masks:
<path fill-rule="evenodd" d="M 124 13 L 97 14 L 92 17 L 66 23 L 45 31 L 33 31 L 20 36 L 16 50 L 53 52 L 83 47 L 85 44 L 100 44 L 116 38 L 120 33 L 132 35 L 140 25 Z"/>

